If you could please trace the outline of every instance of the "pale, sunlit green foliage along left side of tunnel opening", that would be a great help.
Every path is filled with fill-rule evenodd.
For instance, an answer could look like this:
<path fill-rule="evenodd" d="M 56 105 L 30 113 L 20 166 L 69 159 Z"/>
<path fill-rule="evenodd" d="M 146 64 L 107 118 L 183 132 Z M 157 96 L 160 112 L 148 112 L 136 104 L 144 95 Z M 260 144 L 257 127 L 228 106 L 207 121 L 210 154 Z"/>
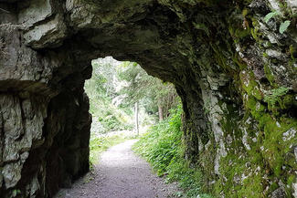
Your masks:
<path fill-rule="evenodd" d="M 110 61 L 93 61 L 92 78 L 85 83 L 85 91 L 90 98 L 90 113 L 94 122 L 100 123 L 96 129 L 101 133 L 111 130 L 130 130 L 133 128 L 132 118 L 126 111 L 112 103 L 112 99 L 119 97 L 116 89 L 116 67 Z M 96 132 L 98 132 L 96 131 Z"/>

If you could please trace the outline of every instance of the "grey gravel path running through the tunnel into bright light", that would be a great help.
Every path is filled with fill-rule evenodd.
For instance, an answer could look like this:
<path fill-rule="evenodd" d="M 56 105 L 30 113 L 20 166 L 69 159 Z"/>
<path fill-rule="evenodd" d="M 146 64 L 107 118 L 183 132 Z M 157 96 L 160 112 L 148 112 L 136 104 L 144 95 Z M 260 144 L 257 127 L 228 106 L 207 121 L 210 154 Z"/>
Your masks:
<path fill-rule="evenodd" d="M 177 188 L 152 173 L 147 162 L 131 147 L 136 140 L 125 141 L 103 152 L 99 165 L 71 189 L 63 189 L 57 198 L 165 198 L 174 197 Z"/>

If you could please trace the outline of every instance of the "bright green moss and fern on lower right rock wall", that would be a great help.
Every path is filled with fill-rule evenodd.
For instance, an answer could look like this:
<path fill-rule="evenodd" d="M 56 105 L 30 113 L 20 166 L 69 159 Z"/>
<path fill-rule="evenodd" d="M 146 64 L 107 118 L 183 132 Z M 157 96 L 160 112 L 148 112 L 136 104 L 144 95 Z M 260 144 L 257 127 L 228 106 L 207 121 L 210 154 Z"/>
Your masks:
<path fill-rule="evenodd" d="M 268 69 L 268 68 L 266 68 Z M 284 134 L 288 134 L 290 130 L 296 130 L 297 121 L 295 118 L 286 118 L 286 115 L 280 114 L 280 109 L 289 109 L 290 104 L 292 105 L 292 94 L 289 94 L 289 89 L 278 88 L 271 89 L 268 94 L 265 94 L 264 101 L 268 103 L 268 108 L 272 109 L 272 113 L 267 111 L 265 104 L 261 102 L 260 99 L 256 99 L 248 92 L 249 96 L 244 97 L 244 104 L 246 106 L 247 112 L 258 122 L 257 141 L 249 140 L 250 150 L 248 155 L 243 156 L 240 161 L 238 158 L 234 158 L 232 161 L 232 169 L 228 170 L 228 164 L 230 164 L 230 158 L 233 157 L 228 153 L 228 156 L 220 162 L 222 167 L 222 174 L 232 175 L 232 170 L 239 170 L 237 174 L 242 174 L 245 172 L 246 163 L 252 162 L 251 169 L 258 169 L 260 167 L 260 172 L 258 174 L 250 174 L 242 184 L 242 187 L 237 187 L 234 189 L 238 194 L 234 194 L 234 197 L 268 197 L 271 192 L 279 188 L 278 182 L 269 183 L 270 180 L 263 180 L 263 175 L 270 174 L 270 178 L 278 178 L 280 181 L 284 182 L 286 192 L 291 191 L 292 177 L 291 172 L 288 172 L 284 167 L 292 167 L 296 169 L 295 159 L 292 157 L 292 144 L 297 142 L 295 136 L 290 138 L 285 138 Z M 279 114 L 277 114 L 279 113 Z M 276 116 L 277 115 L 277 116 Z M 250 134 L 255 132 L 252 126 L 253 123 L 246 123 L 250 126 L 248 132 Z M 256 130 L 256 131 L 257 131 Z M 239 139 L 241 142 L 241 139 Z M 239 151 L 237 151 L 238 153 Z M 237 155 L 234 155 L 237 156 Z M 243 171 L 241 171 L 241 170 Z M 225 172 L 224 172 L 225 171 Z M 249 172 L 245 172 L 248 175 Z M 269 181 L 269 182 L 267 182 Z M 229 186 L 226 188 L 225 186 Z M 217 192 L 220 190 L 226 190 L 225 195 L 227 197 L 232 197 L 228 193 L 233 191 L 233 181 L 229 180 L 224 186 L 217 185 Z M 264 190 L 267 189 L 267 190 Z"/>

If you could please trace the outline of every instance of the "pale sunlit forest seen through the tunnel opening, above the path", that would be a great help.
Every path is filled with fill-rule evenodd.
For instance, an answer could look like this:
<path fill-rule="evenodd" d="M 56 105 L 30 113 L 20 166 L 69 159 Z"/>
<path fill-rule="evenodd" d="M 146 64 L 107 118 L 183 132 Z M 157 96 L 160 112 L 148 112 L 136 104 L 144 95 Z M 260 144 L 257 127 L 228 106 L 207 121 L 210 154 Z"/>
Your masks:
<path fill-rule="evenodd" d="M 178 105 L 174 86 L 149 76 L 137 63 L 105 57 L 93 60 L 92 66 L 92 78 L 85 84 L 92 133 L 133 130 L 135 103 L 141 129 L 164 120 Z"/>

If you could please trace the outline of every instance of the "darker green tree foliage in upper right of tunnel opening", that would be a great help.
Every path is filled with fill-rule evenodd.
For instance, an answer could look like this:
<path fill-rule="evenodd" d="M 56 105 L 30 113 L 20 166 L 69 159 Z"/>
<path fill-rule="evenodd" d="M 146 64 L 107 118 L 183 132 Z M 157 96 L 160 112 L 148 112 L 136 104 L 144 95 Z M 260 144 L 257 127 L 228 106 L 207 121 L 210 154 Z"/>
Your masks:
<path fill-rule="evenodd" d="M 137 63 L 124 62 L 122 68 L 119 78 L 129 84 L 121 90 L 121 94 L 126 96 L 123 101 L 126 105 L 141 101 L 150 114 L 155 114 L 158 107 L 162 107 L 166 115 L 177 104 L 178 97 L 171 83 L 149 76 Z"/>

